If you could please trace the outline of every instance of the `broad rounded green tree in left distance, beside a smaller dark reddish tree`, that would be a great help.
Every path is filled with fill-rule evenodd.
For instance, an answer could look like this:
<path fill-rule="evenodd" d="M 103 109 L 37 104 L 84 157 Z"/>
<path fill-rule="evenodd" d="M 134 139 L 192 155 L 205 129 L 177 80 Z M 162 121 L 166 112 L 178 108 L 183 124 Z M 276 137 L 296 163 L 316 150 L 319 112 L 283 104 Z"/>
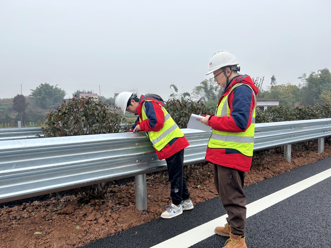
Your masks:
<path fill-rule="evenodd" d="M 36 105 L 43 109 L 49 109 L 50 106 L 62 103 L 66 96 L 65 90 L 57 87 L 58 85 L 50 85 L 48 83 L 40 84 L 34 90 L 31 90 L 31 97 L 36 101 Z"/>

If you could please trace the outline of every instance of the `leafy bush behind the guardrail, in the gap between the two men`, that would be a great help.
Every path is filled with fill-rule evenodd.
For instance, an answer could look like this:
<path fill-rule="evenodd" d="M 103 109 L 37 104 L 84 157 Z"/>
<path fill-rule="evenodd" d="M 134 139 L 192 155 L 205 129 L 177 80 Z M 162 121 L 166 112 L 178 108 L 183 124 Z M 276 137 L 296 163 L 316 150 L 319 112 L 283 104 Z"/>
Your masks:
<path fill-rule="evenodd" d="M 211 111 L 202 101 L 170 99 L 165 108 L 179 128 L 187 128 L 191 114 L 211 114 Z"/>

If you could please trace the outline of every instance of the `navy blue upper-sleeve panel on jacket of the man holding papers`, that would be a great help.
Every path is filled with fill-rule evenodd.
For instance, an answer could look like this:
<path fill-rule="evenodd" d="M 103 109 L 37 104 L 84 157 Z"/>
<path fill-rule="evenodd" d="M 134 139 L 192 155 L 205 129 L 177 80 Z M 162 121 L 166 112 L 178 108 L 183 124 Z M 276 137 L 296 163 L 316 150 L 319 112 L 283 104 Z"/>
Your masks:
<path fill-rule="evenodd" d="M 248 125 L 252 97 L 252 90 L 246 85 L 238 86 L 233 90 L 231 116 L 241 130 Z"/>

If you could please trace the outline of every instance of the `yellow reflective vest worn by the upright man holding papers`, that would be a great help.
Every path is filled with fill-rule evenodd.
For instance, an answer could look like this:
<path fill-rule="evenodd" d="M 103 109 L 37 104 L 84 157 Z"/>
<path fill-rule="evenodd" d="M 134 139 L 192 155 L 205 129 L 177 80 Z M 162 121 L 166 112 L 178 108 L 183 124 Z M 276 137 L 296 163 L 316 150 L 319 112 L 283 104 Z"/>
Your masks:
<path fill-rule="evenodd" d="M 237 83 L 233 85 L 229 91 L 229 94 L 224 96 L 221 102 L 219 103 L 216 109 L 215 116 L 218 117 L 230 116 L 228 96 L 230 95 L 231 91 L 233 91 L 233 89 L 241 85 L 246 85 L 250 87 L 245 83 Z M 251 125 L 247 128 L 245 132 L 231 133 L 231 132 L 222 132 L 222 131 L 213 130 L 212 136 L 208 142 L 209 148 L 235 149 L 246 156 L 249 157 L 253 156 L 256 96 L 252 87 L 250 87 L 250 89 L 252 90 L 255 99 L 255 106 L 252 111 L 253 116 L 252 116 Z"/>

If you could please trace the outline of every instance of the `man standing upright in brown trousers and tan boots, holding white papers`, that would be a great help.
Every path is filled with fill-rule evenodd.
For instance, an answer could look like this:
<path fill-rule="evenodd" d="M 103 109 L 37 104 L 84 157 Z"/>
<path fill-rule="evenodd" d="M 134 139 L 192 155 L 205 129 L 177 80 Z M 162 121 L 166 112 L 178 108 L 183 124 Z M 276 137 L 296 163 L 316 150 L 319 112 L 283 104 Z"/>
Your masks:
<path fill-rule="evenodd" d="M 222 204 L 227 210 L 225 227 L 215 233 L 229 236 L 226 248 L 247 248 L 245 172 L 249 172 L 254 146 L 255 106 L 259 90 L 251 77 L 239 75 L 237 59 L 228 51 L 213 54 L 209 72 L 224 88 L 216 114 L 200 120 L 213 129 L 206 159 L 214 163 L 214 182 Z"/>

